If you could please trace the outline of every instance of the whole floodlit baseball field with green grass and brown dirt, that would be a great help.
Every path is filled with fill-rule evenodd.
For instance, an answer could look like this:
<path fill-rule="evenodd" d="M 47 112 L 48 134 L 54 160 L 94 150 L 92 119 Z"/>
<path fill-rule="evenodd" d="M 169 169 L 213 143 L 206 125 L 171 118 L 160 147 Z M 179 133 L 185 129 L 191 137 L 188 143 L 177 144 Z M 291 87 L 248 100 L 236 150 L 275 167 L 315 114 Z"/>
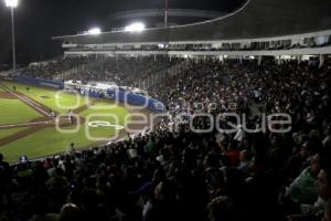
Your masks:
<path fill-rule="evenodd" d="M 10 162 L 124 137 L 130 120 L 130 109 L 111 101 L 0 81 L 0 152 Z"/>

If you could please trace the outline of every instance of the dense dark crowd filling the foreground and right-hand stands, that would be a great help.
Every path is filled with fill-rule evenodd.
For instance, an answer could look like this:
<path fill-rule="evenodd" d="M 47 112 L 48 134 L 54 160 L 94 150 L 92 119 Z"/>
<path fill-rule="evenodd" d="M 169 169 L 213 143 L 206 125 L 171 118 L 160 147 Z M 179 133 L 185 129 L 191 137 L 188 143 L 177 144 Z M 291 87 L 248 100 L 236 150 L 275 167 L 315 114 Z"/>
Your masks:
<path fill-rule="evenodd" d="M 14 166 L 0 156 L 0 220 L 329 221 L 330 84 L 328 62 L 188 60 L 151 96 L 173 118 L 246 114 L 256 133 L 168 117 L 103 148 Z M 258 130 L 263 113 L 289 114 L 291 130 Z"/>

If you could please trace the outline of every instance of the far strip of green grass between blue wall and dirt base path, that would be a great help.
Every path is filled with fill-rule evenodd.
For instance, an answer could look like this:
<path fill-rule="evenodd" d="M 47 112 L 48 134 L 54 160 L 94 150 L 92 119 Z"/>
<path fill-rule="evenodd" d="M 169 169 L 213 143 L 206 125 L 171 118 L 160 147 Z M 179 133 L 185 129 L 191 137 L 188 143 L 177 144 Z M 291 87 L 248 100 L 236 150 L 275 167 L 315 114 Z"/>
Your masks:
<path fill-rule="evenodd" d="M 72 93 L 62 93 L 60 91 L 32 86 L 29 85 L 29 92 L 26 91 L 25 84 L 20 84 L 15 82 L 1 82 L 7 87 L 12 88 L 13 86 L 17 87 L 17 91 L 21 92 L 22 94 L 38 101 L 39 103 L 53 108 L 58 113 L 67 113 L 68 109 L 75 109 L 81 106 L 88 104 L 88 98 L 83 97 L 81 95 L 75 95 Z"/>

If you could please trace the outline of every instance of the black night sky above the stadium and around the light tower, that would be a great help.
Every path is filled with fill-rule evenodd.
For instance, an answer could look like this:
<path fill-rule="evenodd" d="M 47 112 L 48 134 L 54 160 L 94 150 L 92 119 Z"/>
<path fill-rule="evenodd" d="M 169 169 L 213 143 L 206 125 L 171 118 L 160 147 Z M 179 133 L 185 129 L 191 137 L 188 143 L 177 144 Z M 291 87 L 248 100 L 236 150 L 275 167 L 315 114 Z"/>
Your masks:
<path fill-rule="evenodd" d="M 233 11 L 244 0 L 169 0 L 169 8 Z M 164 0 L 20 0 L 15 9 L 18 62 L 26 64 L 61 55 L 54 35 L 76 34 L 105 25 L 113 12 L 163 8 Z M 0 0 L 0 67 L 11 63 L 10 9 Z M 107 30 L 103 30 L 107 31 Z M 10 64 L 11 65 L 11 64 Z"/>

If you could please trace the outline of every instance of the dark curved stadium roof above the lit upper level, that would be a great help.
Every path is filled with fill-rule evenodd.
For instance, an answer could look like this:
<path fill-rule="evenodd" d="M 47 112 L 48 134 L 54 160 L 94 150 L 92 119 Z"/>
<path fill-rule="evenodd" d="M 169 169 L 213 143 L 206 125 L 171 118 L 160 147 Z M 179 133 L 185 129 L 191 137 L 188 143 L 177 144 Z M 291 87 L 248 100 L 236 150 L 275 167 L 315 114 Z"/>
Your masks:
<path fill-rule="evenodd" d="M 77 44 L 221 41 L 300 34 L 331 29 L 330 0 L 248 0 L 225 17 L 140 33 L 56 36 Z"/>

